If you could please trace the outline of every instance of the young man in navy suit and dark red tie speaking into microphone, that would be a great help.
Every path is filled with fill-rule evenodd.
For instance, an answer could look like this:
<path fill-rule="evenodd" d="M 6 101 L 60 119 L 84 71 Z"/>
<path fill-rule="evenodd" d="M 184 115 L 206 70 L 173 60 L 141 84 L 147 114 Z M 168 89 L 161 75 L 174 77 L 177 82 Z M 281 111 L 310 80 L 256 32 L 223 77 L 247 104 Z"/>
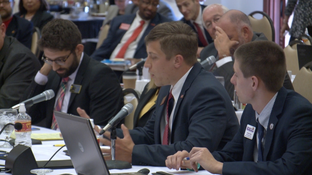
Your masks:
<path fill-rule="evenodd" d="M 117 130 L 116 160 L 165 166 L 167 156 L 178 150 L 221 150 L 239 123 L 225 88 L 197 61 L 196 33 L 181 21 L 167 22 L 155 26 L 145 42 L 144 66 L 161 88 L 155 112 L 143 128 L 128 130 L 122 125 Z M 110 140 L 103 143 L 110 145 Z"/>

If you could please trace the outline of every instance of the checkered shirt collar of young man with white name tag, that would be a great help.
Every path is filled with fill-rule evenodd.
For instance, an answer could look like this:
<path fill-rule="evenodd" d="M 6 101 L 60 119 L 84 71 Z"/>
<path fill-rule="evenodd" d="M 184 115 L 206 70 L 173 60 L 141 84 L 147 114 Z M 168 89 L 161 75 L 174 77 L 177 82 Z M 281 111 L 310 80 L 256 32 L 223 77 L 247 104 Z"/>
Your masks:
<path fill-rule="evenodd" d="M 256 121 L 259 118 L 259 122 L 260 124 L 267 129 L 268 127 L 268 123 L 269 123 L 269 119 L 270 119 L 270 115 L 272 112 L 272 108 L 274 105 L 274 102 L 276 100 L 276 96 L 277 96 L 278 92 L 276 92 L 276 94 L 272 97 L 272 99 L 270 100 L 270 102 L 268 102 L 268 104 L 266 104 L 266 106 L 263 108 L 263 110 L 261 111 L 260 114 L 258 114 L 258 112 L 256 111 Z"/>

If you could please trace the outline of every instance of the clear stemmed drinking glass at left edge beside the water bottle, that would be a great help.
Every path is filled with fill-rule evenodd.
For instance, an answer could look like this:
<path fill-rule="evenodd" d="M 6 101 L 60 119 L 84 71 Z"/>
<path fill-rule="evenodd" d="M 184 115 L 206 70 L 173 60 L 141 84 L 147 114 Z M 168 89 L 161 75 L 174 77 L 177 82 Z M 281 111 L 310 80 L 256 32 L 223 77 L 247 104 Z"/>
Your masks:
<path fill-rule="evenodd" d="M 8 123 L 13 123 L 15 121 L 15 116 L 17 115 L 17 110 L 15 109 L 0 109 L 0 128 L 2 129 L 6 124 Z M 3 145 L 0 146 L 0 148 L 13 148 L 9 141 L 9 137 L 14 130 L 13 125 L 8 125 L 3 133 L 4 133 L 4 138 L 7 142 L 4 142 Z"/>

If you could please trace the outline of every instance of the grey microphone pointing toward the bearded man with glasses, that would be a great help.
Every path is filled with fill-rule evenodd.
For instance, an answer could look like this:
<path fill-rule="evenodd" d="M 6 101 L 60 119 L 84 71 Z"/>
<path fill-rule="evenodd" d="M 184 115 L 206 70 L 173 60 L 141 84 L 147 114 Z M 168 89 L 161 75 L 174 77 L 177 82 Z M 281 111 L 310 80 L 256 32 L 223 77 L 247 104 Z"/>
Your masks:
<path fill-rule="evenodd" d="M 28 100 L 25 100 L 21 103 L 25 103 L 25 108 L 32 106 L 33 104 L 45 101 L 45 100 L 50 100 L 51 98 L 54 97 L 54 91 L 52 89 L 50 90 L 46 90 L 44 92 L 42 92 L 39 95 L 36 95 L 35 97 L 32 97 Z M 19 109 L 19 104 L 11 107 L 12 109 Z"/>

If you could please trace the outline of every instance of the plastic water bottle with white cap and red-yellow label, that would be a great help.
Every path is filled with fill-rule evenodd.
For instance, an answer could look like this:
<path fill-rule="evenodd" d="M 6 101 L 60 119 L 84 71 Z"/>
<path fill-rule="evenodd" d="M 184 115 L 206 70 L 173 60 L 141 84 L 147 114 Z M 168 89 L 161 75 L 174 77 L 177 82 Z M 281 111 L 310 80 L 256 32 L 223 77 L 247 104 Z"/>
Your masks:
<path fill-rule="evenodd" d="M 32 118 L 26 113 L 26 108 L 24 103 L 20 103 L 19 114 L 15 117 L 15 123 L 19 122 L 23 125 L 21 130 L 15 130 L 15 146 L 22 144 L 25 146 L 32 146 L 32 139 L 30 135 L 32 134 Z"/>

